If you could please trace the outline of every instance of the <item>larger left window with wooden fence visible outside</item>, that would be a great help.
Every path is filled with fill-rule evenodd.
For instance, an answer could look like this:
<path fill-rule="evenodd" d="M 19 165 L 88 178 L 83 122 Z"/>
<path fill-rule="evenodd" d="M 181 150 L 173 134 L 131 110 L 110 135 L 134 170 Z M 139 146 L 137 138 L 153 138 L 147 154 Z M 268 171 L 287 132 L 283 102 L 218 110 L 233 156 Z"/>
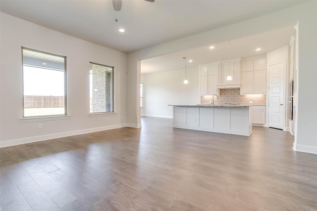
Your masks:
<path fill-rule="evenodd" d="M 22 47 L 23 118 L 67 115 L 66 57 Z"/>

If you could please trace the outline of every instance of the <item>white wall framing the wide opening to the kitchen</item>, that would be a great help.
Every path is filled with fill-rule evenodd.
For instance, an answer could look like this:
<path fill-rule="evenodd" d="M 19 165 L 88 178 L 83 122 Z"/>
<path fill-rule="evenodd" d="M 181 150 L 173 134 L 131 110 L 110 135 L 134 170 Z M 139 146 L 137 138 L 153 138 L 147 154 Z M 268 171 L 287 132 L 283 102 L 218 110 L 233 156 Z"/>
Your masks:
<path fill-rule="evenodd" d="M 226 42 L 273 31 L 299 22 L 297 111 L 294 149 L 317 153 L 317 1 L 242 21 L 236 24 L 166 42 L 128 54 L 128 123 L 141 127 L 140 102 L 137 92 L 140 84 L 140 60 L 186 49 Z"/>

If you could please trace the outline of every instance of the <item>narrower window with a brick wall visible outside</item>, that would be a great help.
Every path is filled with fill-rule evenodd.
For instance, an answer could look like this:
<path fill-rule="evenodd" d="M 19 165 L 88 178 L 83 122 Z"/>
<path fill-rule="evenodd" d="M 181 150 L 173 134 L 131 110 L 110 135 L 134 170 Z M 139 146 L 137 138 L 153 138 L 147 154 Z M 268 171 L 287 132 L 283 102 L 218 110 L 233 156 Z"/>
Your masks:
<path fill-rule="evenodd" d="M 90 62 L 90 113 L 113 112 L 113 67 Z"/>

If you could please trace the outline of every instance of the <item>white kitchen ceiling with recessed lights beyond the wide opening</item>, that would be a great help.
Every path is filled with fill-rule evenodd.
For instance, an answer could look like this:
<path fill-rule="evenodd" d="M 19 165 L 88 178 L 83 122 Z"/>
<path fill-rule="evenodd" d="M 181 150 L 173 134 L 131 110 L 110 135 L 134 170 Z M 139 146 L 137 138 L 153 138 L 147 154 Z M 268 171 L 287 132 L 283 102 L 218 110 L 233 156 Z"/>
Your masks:
<path fill-rule="evenodd" d="M 230 41 L 230 58 L 244 58 L 264 55 L 276 48 L 289 43 L 296 31 L 294 26 L 279 29 L 264 34 L 246 37 Z M 210 49 L 210 46 L 214 46 Z M 256 48 L 261 48 L 256 51 Z M 229 42 L 210 44 L 208 46 L 186 50 L 186 57 L 193 62 L 187 62 L 187 68 L 197 67 L 200 64 L 212 63 L 225 60 L 229 57 Z M 185 68 L 185 51 L 163 55 L 141 61 L 141 73 L 155 73 Z"/>

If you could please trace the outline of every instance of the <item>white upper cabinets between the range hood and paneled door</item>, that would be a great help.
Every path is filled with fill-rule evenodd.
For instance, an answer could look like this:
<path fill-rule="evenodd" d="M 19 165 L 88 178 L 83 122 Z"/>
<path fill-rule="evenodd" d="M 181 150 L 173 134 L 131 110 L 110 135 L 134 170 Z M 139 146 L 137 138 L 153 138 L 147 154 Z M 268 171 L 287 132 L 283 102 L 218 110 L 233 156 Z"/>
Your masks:
<path fill-rule="evenodd" d="M 248 58 L 241 63 L 240 94 L 265 94 L 266 57 Z"/>

